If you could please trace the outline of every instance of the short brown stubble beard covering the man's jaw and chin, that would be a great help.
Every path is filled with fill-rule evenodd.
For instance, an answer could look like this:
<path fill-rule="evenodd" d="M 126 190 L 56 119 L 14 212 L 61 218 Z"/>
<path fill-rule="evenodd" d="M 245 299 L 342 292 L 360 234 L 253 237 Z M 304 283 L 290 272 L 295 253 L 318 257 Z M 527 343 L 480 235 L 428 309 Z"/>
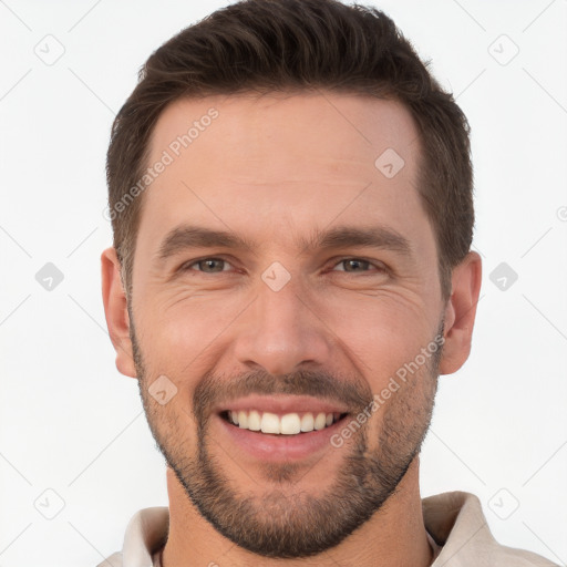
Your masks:
<path fill-rule="evenodd" d="M 251 553 L 269 558 L 305 558 L 339 545 L 380 512 L 420 453 L 434 408 L 441 347 L 392 394 L 388 404 L 378 409 L 384 415 L 375 449 L 369 451 L 371 433 L 368 423 L 371 422 L 355 432 L 350 445 L 340 449 L 344 452 L 342 465 L 321 495 L 301 491 L 301 478 L 306 473 L 305 467 L 293 463 L 266 463 L 260 468 L 260 476 L 268 487 L 258 495 L 257 486 L 250 481 L 254 493 L 247 493 L 246 487 L 234 486 L 227 474 L 237 465 L 228 458 L 225 464 L 219 462 L 218 456 L 225 456 L 223 451 L 215 455 L 209 416 L 203 406 L 197 409 L 199 400 L 214 398 L 207 388 L 217 382 L 204 380 L 195 391 L 193 413 L 197 422 L 197 451 L 192 456 L 178 441 L 184 439 L 185 432 L 178 431 L 174 415 L 164 412 L 164 408 L 156 409 L 148 394 L 147 373 L 132 317 L 131 323 L 140 393 L 158 450 L 200 515 L 234 544 Z M 439 336 L 443 336 L 443 321 Z M 301 374 L 301 380 L 293 375 L 287 381 L 278 379 L 278 382 L 269 379 L 266 382 L 267 378 L 274 380 L 266 374 L 251 378 L 256 385 L 264 384 L 261 388 L 266 391 L 269 384 L 278 388 L 277 393 L 312 394 L 321 389 L 320 380 L 318 384 L 315 381 L 306 383 L 306 377 L 316 380 L 311 373 Z M 369 392 L 360 392 L 361 400 L 369 401 L 368 395 Z M 339 449 L 329 445 L 328 451 Z"/>

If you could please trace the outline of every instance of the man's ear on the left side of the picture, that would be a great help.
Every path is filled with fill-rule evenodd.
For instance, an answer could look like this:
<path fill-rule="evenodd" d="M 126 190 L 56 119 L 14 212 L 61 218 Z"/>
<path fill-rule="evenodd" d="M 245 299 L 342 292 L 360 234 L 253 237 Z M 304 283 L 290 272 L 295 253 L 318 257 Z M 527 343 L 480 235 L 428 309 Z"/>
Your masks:
<path fill-rule="evenodd" d="M 106 248 L 101 256 L 102 300 L 106 327 L 116 351 L 116 368 L 126 377 L 136 378 L 132 341 L 130 340 L 130 317 L 126 293 L 120 277 L 121 266 L 114 248 Z"/>

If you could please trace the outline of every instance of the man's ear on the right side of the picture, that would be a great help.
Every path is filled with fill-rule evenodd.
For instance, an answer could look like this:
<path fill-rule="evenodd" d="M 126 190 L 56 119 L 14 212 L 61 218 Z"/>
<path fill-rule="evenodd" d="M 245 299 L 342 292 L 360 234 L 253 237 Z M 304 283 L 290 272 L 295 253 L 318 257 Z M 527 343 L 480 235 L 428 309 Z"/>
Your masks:
<path fill-rule="evenodd" d="M 445 307 L 445 343 L 440 363 L 441 374 L 456 372 L 468 358 L 481 281 L 481 257 L 477 252 L 470 251 L 453 269 L 451 298 Z"/>

